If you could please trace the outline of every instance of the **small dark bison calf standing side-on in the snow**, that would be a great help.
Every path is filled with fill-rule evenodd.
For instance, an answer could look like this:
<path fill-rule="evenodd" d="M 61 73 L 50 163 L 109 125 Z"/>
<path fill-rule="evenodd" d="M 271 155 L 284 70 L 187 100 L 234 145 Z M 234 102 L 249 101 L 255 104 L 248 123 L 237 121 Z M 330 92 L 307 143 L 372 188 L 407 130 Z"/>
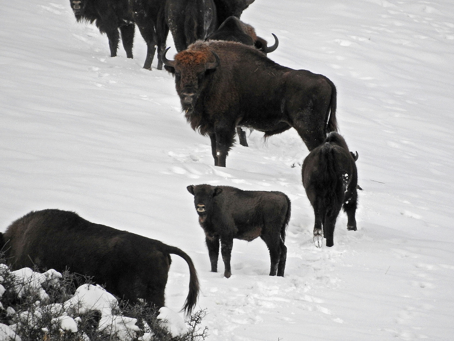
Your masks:
<path fill-rule="evenodd" d="M 284 245 L 290 220 L 290 199 L 282 192 L 241 190 L 230 186 L 190 185 L 199 223 L 206 235 L 211 271 L 217 272 L 219 240 L 224 276 L 232 275 L 233 239 L 263 239 L 271 259 L 270 276 L 283 276 L 287 248 Z"/>

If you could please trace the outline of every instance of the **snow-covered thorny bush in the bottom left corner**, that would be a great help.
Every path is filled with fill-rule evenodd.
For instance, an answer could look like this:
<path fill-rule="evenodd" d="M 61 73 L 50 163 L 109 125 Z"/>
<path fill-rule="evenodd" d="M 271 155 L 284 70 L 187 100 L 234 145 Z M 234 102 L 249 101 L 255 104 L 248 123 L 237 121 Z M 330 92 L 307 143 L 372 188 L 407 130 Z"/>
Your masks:
<path fill-rule="evenodd" d="M 158 315 L 159 313 L 159 315 Z M 0 264 L 0 340 L 193 341 L 204 311 L 185 322 L 168 308 L 128 305 L 69 272 L 44 273 Z"/>

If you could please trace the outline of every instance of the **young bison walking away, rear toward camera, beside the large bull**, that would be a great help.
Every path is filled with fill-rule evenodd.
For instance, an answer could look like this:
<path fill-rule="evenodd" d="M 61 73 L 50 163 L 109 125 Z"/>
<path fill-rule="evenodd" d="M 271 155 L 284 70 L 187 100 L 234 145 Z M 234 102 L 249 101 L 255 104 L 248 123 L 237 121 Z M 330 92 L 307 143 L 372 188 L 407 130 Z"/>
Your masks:
<path fill-rule="evenodd" d="M 314 242 L 319 248 L 323 237 L 327 247 L 334 245 L 334 225 L 342 207 L 348 216 L 347 229 L 356 231 L 357 159 L 358 153 L 349 152 L 344 138 L 336 132 L 329 133 L 304 159 L 303 185 L 314 209 Z"/>

